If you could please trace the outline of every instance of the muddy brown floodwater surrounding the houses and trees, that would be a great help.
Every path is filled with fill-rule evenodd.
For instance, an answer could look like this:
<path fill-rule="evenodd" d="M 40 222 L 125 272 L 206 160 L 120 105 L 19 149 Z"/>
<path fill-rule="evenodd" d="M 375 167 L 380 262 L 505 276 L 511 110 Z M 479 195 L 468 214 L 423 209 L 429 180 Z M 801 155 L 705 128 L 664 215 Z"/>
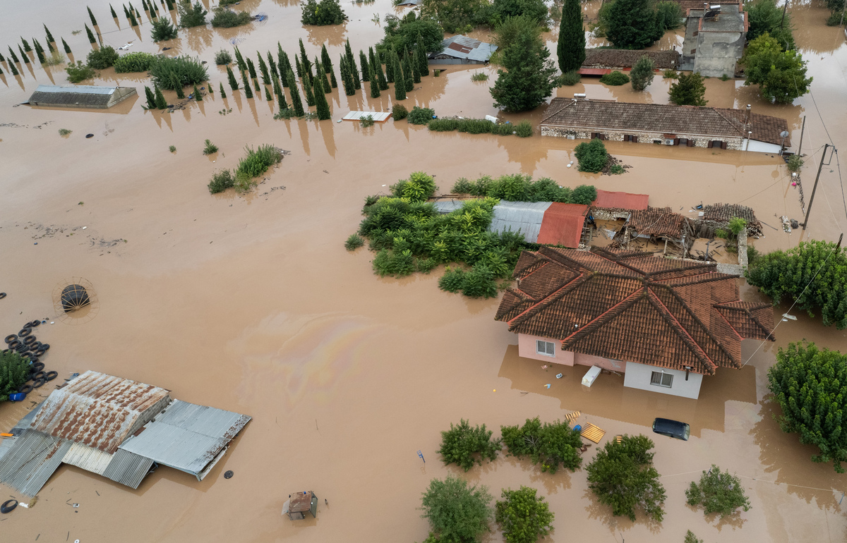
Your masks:
<path fill-rule="evenodd" d="M 6 7 L 3 36 L 42 36 L 46 24 L 69 42 L 75 58 L 84 57 L 85 32 L 71 34 L 87 22 L 81 5 L 51 0 L 37 11 L 27 5 Z M 632 168 L 622 176 L 598 176 L 566 167 L 578 143 L 568 140 L 430 134 L 403 122 L 360 129 L 335 121 L 274 121 L 274 105 L 263 96 L 246 100 L 227 91 L 226 99 L 219 97 L 225 73 L 211 65 L 213 52 L 234 40 L 255 56 L 257 50 L 275 51 L 280 41 L 293 54 L 303 38 L 310 55 L 325 41 L 335 60 L 347 37 L 355 52 L 378 41 L 382 30 L 373 15 L 381 19 L 397 10 L 387 0 L 344 3 L 351 19 L 346 25 L 304 29 L 297 3 L 246 0 L 241 8 L 268 14 L 267 22 L 180 31 L 180 39 L 154 44 L 146 15 L 139 29 L 119 19 L 119 30 L 108 17 L 108 3 L 89 5 L 110 45 L 134 40 L 130 51 L 174 47 L 169 53 L 207 60 L 216 93 L 173 113 L 143 111 L 143 97 L 109 112 L 13 107 L 38 84 L 62 83 L 64 73 L 36 65 L 14 77 L 3 63 L 0 290 L 8 297 L 0 301 L 0 329 L 16 332 L 25 321 L 53 318 L 53 288 L 85 277 L 96 289 L 96 307 L 83 318 L 54 318 L 55 324 L 39 330 L 39 339 L 53 346 L 44 360 L 48 369 L 61 377 L 105 371 L 253 420 L 202 482 L 161 468 L 132 491 L 64 466 L 35 507 L 0 518 L 3 540 L 424 540 L 427 524 L 416 508 L 420 493 L 430 479 L 446 474 L 488 485 L 495 496 L 507 486 L 539 488 L 556 513 L 553 541 L 678 541 L 686 529 L 721 541 L 847 536 L 847 505 L 839 504 L 847 491 L 844 475 L 811 463 L 813 447 L 784 435 L 772 407 L 761 403 L 778 347 L 807 338 L 847 351 L 844 332 L 805 315 L 782 322 L 776 343 L 745 342 L 749 363 L 743 370 L 706 378 L 698 401 L 623 389 L 616 376 L 602 376 L 585 389 L 575 375 L 579 369 L 562 369 L 563 378 L 556 380 L 553 368 L 518 358 L 517 338 L 493 320 L 497 300 L 440 292 L 439 270 L 379 278 L 367 250 L 351 254 L 342 246 L 357 228 L 363 198 L 385 193 L 388 184 L 417 170 L 435 174 L 445 192 L 461 176 L 522 172 L 563 185 L 646 193 L 651 205 L 683 213 L 700 201 L 741 202 L 778 227 L 780 216 L 802 218 L 799 190 L 778 157 L 610 143 L 612 154 Z M 755 89 L 712 79 L 706 98 L 721 107 L 751 103 L 756 112 L 788 119 L 794 151 L 805 116 L 802 178 L 808 199 L 822 145 L 847 142 L 847 46 L 840 30 L 823 25 L 827 12 L 817 3 L 794 5 L 791 13 L 815 77 L 813 96 L 772 106 Z M 555 31 L 547 36 L 551 43 Z M 434 107 L 442 116 L 496 114 L 487 86 L 470 80 L 482 69 L 491 84 L 494 67 L 447 68 L 438 78 L 424 78 L 409 93 L 407 107 Z M 97 83 L 141 89 L 142 81 L 109 69 Z M 584 80 L 556 93 L 662 103 L 667 86 L 656 80 L 636 95 Z M 174 95 L 166 95 L 174 103 Z M 330 96 L 334 119 L 349 109 L 389 108 L 393 101 L 388 92 L 376 100 L 338 91 Z M 537 122 L 542 111 L 504 117 Z M 60 137 L 63 128 L 73 133 Z M 94 136 L 86 139 L 89 133 Z M 220 148 L 211 158 L 201 152 L 207 138 Z M 263 143 L 291 155 L 251 195 L 208 194 L 214 169 L 234 167 L 245 145 Z M 174 154 L 169 145 L 176 146 Z M 823 169 L 809 229 L 788 234 L 766 227 L 756 245 L 772 250 L 801 239 L 837 239 L 845 222 L 833 160 Z M 759 297 L 743 282 L 742 292 L 745 299 Z M 543 387 L 548 382 L 549 390 Z M 30 409 L 29 399 L 0 406 L 0 425 L 14 424 Z M 462 474 L 437 457 L 439 432 L 460 417 L 496 430 L 536 415 L 560 419 L 571 410 L 580 410 L 579 420 L 600 426 L 607 437 L 649 434 L 655 416 L 692 425 L 689 442 L 655 440 L 656 467 L 668 494 L 661 526 L 612 517 L 587 491 L 584 471 L 551 476 L 527 462 L 500 458 Z M 719 521 L 684 504 L 689 481 L 711 463 L 742 477 L 750 512 Z M 235 476 L 224 480 L 228 469 Z M 287 495 L 302 490 L 327 500 L 318 518 L 292 523 L 280 517 Z M 496 532 L 487 537 L 497 540 Z"/>

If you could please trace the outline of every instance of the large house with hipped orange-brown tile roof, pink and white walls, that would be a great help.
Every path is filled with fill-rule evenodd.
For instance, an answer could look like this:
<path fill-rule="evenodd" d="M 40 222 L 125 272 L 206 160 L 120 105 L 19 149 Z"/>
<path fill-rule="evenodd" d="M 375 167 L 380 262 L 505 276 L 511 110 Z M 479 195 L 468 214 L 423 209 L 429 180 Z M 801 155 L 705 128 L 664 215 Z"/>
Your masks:
<path fill-rule="evenodd" d="M 773 340 L 770 304 L 739 299 L 714 263 L 627 250 L 524 251 L 495 319 L 519 354 L 624 373 L 624 386 L 697 398 L 703 376 L 739 369 L 741 340 Z"/>

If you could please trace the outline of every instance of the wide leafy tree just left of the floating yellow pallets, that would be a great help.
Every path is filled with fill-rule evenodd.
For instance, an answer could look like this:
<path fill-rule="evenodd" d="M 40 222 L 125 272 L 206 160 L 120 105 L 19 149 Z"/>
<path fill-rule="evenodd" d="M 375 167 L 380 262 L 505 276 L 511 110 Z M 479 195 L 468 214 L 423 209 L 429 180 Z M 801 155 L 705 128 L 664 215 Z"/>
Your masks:
<path fill-rule="evenodd" d="M 542 425 L 535 417 L 527 419 L 523 426 L 501 426 L 501 433 L 510 455 L 529 457 L 532 463 L 541 464 L 541 471 L 555 474 L 559 464 L 575 471 L 582 464 L 579 456 L 582 438 L 567 422 L 556 420 Z"/>

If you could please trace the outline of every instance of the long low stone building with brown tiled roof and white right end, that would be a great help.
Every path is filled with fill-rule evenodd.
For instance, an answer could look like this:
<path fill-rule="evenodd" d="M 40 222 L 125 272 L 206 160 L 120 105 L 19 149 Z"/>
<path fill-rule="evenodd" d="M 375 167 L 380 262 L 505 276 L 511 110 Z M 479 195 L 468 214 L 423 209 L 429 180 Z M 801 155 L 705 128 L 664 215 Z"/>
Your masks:
<path fill-rule="evenodd" d="M 541 135 L 779 152 L 791 145 L 783 118 L 746 109 L 635 104 L 623 101 L 553 98 L 540 123 Z"/>

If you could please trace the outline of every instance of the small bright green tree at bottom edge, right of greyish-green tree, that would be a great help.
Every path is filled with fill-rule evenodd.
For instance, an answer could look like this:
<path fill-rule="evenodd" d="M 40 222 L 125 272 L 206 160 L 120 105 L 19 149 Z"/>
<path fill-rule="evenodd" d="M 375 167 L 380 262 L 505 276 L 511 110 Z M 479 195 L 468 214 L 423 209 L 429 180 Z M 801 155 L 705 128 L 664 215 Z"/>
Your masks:
<path fill-rule="evenodd" d="M 553 513 L 538 491 L 521 486 L 519 491 L 503 489 L 503 501 L 495 504 L 495 521 L 507 543 L 535 543 L 550 534 Z"/>

